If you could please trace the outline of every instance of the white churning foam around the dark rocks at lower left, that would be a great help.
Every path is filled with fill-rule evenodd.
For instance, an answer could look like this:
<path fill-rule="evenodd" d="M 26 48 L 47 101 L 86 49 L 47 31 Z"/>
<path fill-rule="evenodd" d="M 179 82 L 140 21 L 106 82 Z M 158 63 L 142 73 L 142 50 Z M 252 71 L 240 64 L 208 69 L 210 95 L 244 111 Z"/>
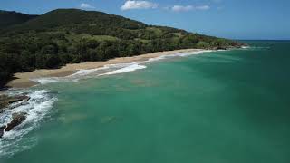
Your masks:
<path fill-rule="evenodd" d="M 45 90 L 30 91 L 27 96 L 30 97 L 30 100 L 24 103 L 24 105 L 0 114 L 0 126 L 3 126 L 12 120 L 14 112 L 27 113 L 26 119 L 22 124 L 13 130 L 5 132 L 3 138 L 0 139 L 0 158 L 12 156 L 15 152 L 34 145 L 36 139 L 24 138 L 24 135 L 38 126 L 39 121 L 43 120 L 43 117 L 53 107 L 54 101 L 57 100 L 49 91 Z"/>

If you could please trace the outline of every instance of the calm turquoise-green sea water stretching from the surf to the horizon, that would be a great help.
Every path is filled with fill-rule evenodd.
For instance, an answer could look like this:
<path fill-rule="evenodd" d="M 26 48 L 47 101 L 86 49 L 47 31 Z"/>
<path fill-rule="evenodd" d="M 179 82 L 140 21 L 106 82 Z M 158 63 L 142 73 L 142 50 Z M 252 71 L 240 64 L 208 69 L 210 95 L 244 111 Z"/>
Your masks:
<path fill-rule="evenodd" d="M 0 162 L 289 163 L 290 42 L 247 43 L 38 86 L 57 101 Z"/>

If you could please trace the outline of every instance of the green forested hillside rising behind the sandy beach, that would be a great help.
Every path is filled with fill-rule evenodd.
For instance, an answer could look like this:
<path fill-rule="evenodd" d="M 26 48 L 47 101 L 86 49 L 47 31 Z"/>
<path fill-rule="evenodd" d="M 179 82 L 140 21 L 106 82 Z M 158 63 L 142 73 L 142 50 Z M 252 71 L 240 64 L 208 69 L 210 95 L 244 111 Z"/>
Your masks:
<path fill-rule="evenodd" d="M 7 21 L 0 14 L 0 22 L 3 22 L 0 28 L 0 87 L 11 79 L 14 72 L 57 68 L 70 62 L 240 45 L 226 39 L 143 24 L 101 12 L 58 9 L 27 19 L 19 19 L 20 15 L 24 14 Z"/>

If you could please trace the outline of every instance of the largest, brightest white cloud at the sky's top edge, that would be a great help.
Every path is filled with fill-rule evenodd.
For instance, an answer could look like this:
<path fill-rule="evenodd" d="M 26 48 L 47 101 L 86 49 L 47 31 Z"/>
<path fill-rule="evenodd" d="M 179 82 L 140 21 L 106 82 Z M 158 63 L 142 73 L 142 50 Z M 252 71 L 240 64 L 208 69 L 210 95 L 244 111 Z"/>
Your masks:
<path fill-rule="evenodd" d="M 150 9 L 157 8 L 158 4 L 149 1 L 126 1 L 124 5 L 121 6 L 121 10 L 132 10 L 132 9 Z"/>

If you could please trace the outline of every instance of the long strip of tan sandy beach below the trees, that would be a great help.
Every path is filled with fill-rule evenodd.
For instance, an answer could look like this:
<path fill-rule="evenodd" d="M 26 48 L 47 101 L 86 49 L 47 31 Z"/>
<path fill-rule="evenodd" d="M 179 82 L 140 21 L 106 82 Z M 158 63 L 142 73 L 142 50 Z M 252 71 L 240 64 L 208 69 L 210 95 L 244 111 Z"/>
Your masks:
<path fill-rule="evenodd" d="M 145 53 L 131 57 L 119 57 L 103 62 L 81 62 L 81 63 L 69 63 L 59 69 L 39 69 L 33 72 L 17 72 L 14 73 L 14 80 L 6 84 L 10 88 L 29 88 L 39 84 L 39 82 L 31 81 L 35 78 L 47 78 L 47 77 L 65 77 L 72 75 L 79 70 L 90 70 L 100 68 L 108 64 L 118 64 L 125 62 L 140 62 L 146 61 L 150 58 L 156 58 L 163 55 L 169 55 L 174 53 L 198 53 L 205 51 L 205 49 L 181 49 L 174 51 L 165 51 L 157 53 Z"/>

